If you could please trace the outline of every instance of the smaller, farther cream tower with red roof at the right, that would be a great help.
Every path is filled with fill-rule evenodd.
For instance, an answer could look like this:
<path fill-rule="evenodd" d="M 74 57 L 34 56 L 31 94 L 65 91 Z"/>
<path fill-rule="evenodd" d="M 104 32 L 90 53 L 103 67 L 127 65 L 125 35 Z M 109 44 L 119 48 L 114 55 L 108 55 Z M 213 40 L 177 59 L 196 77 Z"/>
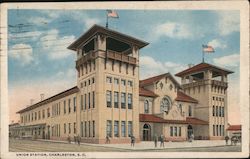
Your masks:
<path fill-rule="evenodd" d="M 181 87 L 186 94 L 198 100 L 195 117 L 208 121 L 207 128 L 200 128 L 209 139 L 224 139 L 226 135 L 227 75 L 232 71 L 200 63 L 176 74 L 181 77 Z"/>

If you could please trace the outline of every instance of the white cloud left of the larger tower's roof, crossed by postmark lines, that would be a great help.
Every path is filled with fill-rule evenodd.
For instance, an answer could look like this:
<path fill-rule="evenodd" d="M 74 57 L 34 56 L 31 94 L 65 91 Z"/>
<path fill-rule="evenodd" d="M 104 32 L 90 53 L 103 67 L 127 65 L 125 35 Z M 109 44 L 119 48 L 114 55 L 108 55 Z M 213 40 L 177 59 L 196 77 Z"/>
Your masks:
<path fill-rule="evenodd" d="M 42 48 L 48 54 L 50 59 L 62 59 L 70 56 L 70 50 L 67 46 L 75 40 L 75 36 L 59 36 L 59 31 L 56 29 L 48 31 L 48 33 L 40 38 Z"/>

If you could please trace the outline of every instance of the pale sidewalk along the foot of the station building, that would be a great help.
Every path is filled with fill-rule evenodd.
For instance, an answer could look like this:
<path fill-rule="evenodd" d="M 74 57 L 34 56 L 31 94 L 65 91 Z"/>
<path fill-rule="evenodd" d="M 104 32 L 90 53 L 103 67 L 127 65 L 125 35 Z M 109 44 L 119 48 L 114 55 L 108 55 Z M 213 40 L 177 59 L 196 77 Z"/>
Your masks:
<path fill-rule="evenodd" d="M 66 141 L 57 141 L 57 140 L 41 140 L 38 141 L 46 141 L 46 142 L 57 142 L 57 143 L 65 143 Z M 75 144 L 71 142 L 71 144 Z M 155 148 L 153 141 L 141 141 L 140 143 L 135 143 L 134 147 L 131 147 L 129 143 L 127 144 L 91 144 L 91 143 L 81 143 L 81 145 L 87 146 L 96 146 L 96 147 L 110 147 L 116 149 L 124 149 L 124 150 L 156 150 L 156 149 L 169 149 L 169 148 L 195 148 L 195 147 L 216 147 L 216 146 L 225 146 L 224 140 L 194 140 L 193 142 L 165 142 L 164 147 L 160 147 L 160 142 L 158 142 L 157 148 Z M 229 142 L 230 145 L 230 142 Z M 237 144 L 239 145 L 239 143 Z"/>

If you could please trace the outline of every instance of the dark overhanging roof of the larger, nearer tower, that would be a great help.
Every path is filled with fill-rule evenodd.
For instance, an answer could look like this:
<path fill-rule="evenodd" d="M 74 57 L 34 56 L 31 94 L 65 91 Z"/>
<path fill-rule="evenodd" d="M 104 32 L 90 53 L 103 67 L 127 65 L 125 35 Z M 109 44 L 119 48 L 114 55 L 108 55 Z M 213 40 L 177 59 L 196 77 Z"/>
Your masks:
<path fill-rule="evenodd" d="M 97 33 L 102 33 L 104 35 L 107 35 L 109 37 L 113 37 L 115 39 L 122 40 L 127 43 L 132 43 L 137 45 L 139 48 L 142 48 L 149 43 L 139 40 L 137 38 L 134 38 L 132 36 L 111 30 L 109 28 L 105 28 L 100 25 L 93 25 L 87 32 L 85 32 L 82 36 L 80 36 L 76 41 L 74 41 L 72 44 L 68 46 L 68 49 L 76 51 L 76 49 L 81 46 L 81 44 L 85 43 L 88 41 L 91 37 L 95 36 Z"/>

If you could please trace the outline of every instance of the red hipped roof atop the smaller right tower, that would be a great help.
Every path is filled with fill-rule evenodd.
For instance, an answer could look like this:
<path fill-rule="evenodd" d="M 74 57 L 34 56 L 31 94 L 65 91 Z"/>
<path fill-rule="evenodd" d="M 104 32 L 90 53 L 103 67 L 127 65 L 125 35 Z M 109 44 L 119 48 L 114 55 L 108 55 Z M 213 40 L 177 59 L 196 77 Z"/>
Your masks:
<path fill-rule="evenodd" d="M 208 70 L 211 68 L 215 69 L 215 70 L 220 70 L 220 71 L 226 72 L 227 74 L 233 73 L 232 71 L 229 71 L 229 70 L 226 70 L 226 69 L 223 69 L 223 68 L 220 68 L 220 67 L 203 62 L 203 63 L 195 65 L 191 68 L 188 68 L 182 72 L 179 72 L 179 73 L 175 74 L 175 76 L 181 77 L 181 76 L 186 75 L 186 74 L 190 74 L 190 73 L 194 73 L 194 72 L 198 72 L 198 71 L 203 71 L 203 70 Z"/>

